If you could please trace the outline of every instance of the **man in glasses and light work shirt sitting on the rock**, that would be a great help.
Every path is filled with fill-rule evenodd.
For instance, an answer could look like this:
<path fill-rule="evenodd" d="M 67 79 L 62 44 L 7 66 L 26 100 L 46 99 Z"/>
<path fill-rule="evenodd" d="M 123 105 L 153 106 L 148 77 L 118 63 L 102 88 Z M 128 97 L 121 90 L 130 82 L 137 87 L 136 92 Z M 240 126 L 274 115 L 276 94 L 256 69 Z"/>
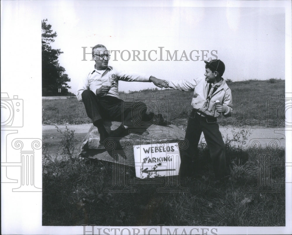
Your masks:
<path fill-rule="evenodd" d="M 95 60 L 94 69 L 81 79 L 76 95 L 79 101 L 83 101 L 87 116 L 98 128 L 101 144 L 107 137 L 127 135 L 128 127 L 133 126 L 133 118 L 139 119 L 140 123 L 154 120 L 157 124 L 165 124 L 161 114 L 147 114 L 147 107 L 142 102 L 135 104 L 133 109 L 125 107 L 124 101 L 119 98 L 118 82 L 119 80 L 153 82 L 161 88 L 167 85 L 166 81 L 154 76 L 126 73 L 108 66 L 109 51 L 101 44 L 92 48 L 92 57 Z M 123 123 L 109 134 L 104 126 L 105 120 L 123 121 Z"/>

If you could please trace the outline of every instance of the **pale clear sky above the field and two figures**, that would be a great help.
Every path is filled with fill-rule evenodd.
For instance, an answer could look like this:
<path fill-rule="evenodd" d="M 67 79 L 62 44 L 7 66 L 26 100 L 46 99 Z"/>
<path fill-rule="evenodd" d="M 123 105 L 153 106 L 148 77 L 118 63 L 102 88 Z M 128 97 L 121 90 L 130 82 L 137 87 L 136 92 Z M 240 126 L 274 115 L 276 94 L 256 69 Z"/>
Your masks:
<path fill-rule="evenodd" d="M 160 79 L 204 76 L 204 60 L 216 57 L 225 63 L 225 79 L 285 79 L 283 7 L 212 7 L 208 1 L 193 1 L 191 6 L 153 6 L 149 4 L 152 1 L 147 2 L 150 6 L 135 6 L 129 1 L 121 2 L 129 4 L 117 2 L 109 7 L 101 1 L 61 1 L 42 5 L 41 17 L 48 19 L 58 34 L 52 48 L 64 52 L 59 62 L 71 79 L 71 92 L 75 93 L 79 80 L 94 66 L 91 55 L 86 54 L 83 60 L 82 47 L 90 53 L 90 47 L 96 44 L 110 51 L 124 51 L 116 52 L 116 57 L 112 55 L 109 65 Z M 146 51 L 146 61 L 134 58 L 133 50 L 140 52 L 141 60 Z M 182 61 L 165 61 L 167 50 L 171 55 L 177 50 L 177 60 Z M 187 58 L 181 58 L 184 51 Z M 196 61 L 191 60 L 190 53 Z M 119 83 L 119 90 L 124 91 L 154 87 L 152 83 Z"/>

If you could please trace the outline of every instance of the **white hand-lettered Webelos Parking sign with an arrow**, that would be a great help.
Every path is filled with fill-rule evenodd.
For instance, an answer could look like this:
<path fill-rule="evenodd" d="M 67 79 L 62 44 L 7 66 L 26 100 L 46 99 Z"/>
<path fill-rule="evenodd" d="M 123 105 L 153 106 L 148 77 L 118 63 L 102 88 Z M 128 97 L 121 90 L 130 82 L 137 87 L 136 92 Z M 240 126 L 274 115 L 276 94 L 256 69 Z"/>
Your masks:
<path fill-rule="evenodd" d="M 136 177 L 141 179 L 178 175 L 178 143 L 134 145 Z"/>

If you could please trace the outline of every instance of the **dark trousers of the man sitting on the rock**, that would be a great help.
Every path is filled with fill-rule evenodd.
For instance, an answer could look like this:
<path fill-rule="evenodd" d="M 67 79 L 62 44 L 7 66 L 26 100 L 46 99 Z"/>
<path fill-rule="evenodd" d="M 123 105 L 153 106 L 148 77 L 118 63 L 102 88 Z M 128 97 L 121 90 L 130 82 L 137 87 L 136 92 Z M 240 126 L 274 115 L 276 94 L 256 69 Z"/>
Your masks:
<path fill-rule="evenodd" d="M 109 121 L 122 121 L 124 126 L 133 126 L 133 119 L 151 118 L 146 114 L 147 106 L 140 102 L 137 112 L 132 107 L 125 107 L 124 101 L 114 96 L 96 96 L 91 90 L 84 90 L 81 94 L 86 114 L 91 118 L 93 125 L 100 119 Z M 147 117 L 145 117 L 147 116 Z M 148 117 L 149 116 L 149 117 Z"/>

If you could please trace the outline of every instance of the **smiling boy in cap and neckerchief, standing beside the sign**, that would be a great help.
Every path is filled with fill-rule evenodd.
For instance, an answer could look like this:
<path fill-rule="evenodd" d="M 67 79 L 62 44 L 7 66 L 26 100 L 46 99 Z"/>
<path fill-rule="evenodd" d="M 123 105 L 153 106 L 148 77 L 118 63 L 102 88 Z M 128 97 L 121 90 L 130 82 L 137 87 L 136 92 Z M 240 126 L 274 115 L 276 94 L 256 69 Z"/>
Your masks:
<path fill-rule="evenodd" d="M 193 156 L 197 155 L 201 133 L 204 133 L 210 149 L 215 179 L 226 176 L 225 144 L 217 124 L 220 113 L 231 116 L 232 95 L 222 75 L 225 65 L 221 60 L 205 61 L 205 77 L 192 80 L 169 81 L 168 86 L 177 90 L 194 90 L 192 112 L 185 133 L 187 149 L 182 151 L 180 175 L 191 176 L 193 173 Z M 215 104 L 219 100 L 220 104 Z"/>

